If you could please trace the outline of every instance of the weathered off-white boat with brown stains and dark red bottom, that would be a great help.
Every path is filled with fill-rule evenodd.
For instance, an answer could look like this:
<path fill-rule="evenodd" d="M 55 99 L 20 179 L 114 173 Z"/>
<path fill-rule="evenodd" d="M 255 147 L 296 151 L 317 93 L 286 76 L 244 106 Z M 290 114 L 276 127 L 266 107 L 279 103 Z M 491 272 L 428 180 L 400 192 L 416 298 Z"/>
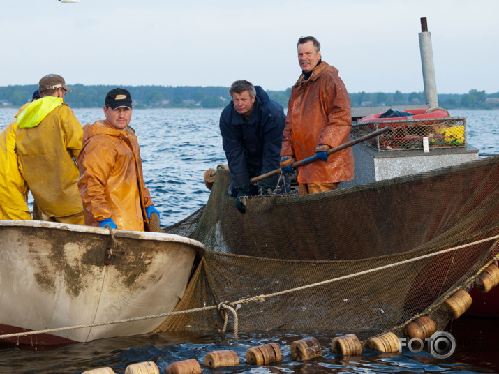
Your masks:
<path fill-rule="evenodd" d="M 204 246 L 174 234 L 0 220 L 0 334 L 169 313 Z M 145 334 L 164 318 L 8 338 L 49 345 Z"/>

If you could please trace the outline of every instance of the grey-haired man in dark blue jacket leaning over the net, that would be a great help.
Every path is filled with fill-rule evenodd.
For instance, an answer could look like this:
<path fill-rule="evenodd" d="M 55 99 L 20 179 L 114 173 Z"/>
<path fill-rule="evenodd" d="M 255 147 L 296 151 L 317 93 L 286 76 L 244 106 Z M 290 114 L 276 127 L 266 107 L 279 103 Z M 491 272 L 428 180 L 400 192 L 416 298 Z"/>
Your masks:
<path fill-rule="evenodd" d="M 251 184 L 250 179 L 279 167 L 286 117 L 281 105 L 270 100 L 260 86 L 237 80 L 229 89 L 232 101 L 220 116 L 223 150 L 232 178 L 229 195 L 236 197 L 236 207 L 244 213 L 242 196 L 289 191 L 279 175 Z"/>

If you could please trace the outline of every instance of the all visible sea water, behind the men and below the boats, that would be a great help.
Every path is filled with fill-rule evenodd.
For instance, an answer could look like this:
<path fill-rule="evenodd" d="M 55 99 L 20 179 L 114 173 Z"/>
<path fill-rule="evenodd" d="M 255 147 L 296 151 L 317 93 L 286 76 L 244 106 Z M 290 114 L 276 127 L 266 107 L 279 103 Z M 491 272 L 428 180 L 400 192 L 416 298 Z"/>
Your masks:
<path fill-rule="evenodd" d="M 15 112 L 0 110 L 0 130 L 12 121 Z M 100 109 L 74 112 L 82 124 L 103 118 Z M 207 202 L 209 190 L 204 186 L 203 173 L 226 163 L 218 130 L 220 113 L 221 110 L 133 110 L 131 126 L 139 137 L 145 184 L 161 212 L 163 227 L 186 218 Z M 499 110 L 453 110 L 451 114 L 467 118 L 468 143 L 472 147 L 482 154 L 499 154 Z M 458 338 L 456 352 L 449 359 L 435 359 L 428 352 L 380 354 L 368 350 L 362 357 L 345 359 L 332 354 L 331 336 L 313 331 L 240 334 L 239 341 L 233 341 L 230 336 L 189 333 L 105 339 L 50 350 L 3 347 L 0 373 L 81 373 L 103 366 L 124 373 L 126 366 L 141 361 L 155 361 L 163 373 L 172 361 L 195 358 L 202 364 L 207 352 L 222 349 L 235 350 L 241 365 L 220 371 L 204 369 L 204 373 L 499 372 L 499 320 L 461 317 L 448 329 Z M 305 364 L 291 360 L 291 342 L 304 336 L 318 338 L 325 349 L 322 359 Z M 281 364 L 244 365 L 249 347 L 270 342 L 281 347 Z"/>

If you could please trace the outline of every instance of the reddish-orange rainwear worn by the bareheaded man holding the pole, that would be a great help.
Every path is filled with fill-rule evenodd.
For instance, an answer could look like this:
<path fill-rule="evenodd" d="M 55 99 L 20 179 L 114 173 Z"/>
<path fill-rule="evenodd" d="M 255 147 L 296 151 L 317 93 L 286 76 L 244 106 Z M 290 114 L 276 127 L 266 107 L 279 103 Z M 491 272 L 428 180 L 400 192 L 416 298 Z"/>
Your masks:
<path fill-rule="evenodd" d="M 281 156 L 296 160 L 313 156 L 318 144 L 338 147 L 350 141 L 352 117 L 350 98 L 338 70 L 324 61 L 311 77 L 301 75 L 291 89 Z M 298 167 L 299 183 L 334 183 L 353 179 L 352 147 Z"/>

